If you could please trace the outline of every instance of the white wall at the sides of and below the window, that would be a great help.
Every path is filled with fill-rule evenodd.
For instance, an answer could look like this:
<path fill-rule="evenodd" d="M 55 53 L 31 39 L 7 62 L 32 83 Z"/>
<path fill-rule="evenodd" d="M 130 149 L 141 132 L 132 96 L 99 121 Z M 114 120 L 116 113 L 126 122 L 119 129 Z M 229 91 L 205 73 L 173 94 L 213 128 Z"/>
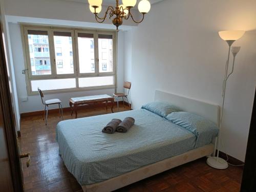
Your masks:
<path fill-rule="evenodd" d="M 15 77 L 17 84 L 17 93 L 19 97 L 19 111 L 20 113 L 40 111 L 42 110 L 42 103 L 39 95 L 28 96 L 26 88 L 26 78 L 22 74 L 22 70 L 25 69 L 24 54 L 22 46 L 22 36 L 20 34 L 20 26 L 18 24 L 9 24 L 10 39 L 13 55 L 13 63 L 15 68 Z M 122 91 L 123 83 L 123 32 L 118 34 L 118 52 L 117 52 L 117 90 Z M 120 59 L 119 59 L 120 58 Z M 112 95 L 115 89 L 104 89 L 104 90 L 93 90 L 93 91 L 82 91 L 82 92 L 67 92 L 57 94 L 46 94 L 45 99 L 59 98 L 62 101 L 63 107 L 69 106 L 69 99 L 71 97 L 87 96 L 87 95 L 99 95 L 109 94 Z M 22 98 L 28 97 L 28 101 L 22 101 Z M 58 106 L 51 106 L 51 109 L 57 108 Z"/>

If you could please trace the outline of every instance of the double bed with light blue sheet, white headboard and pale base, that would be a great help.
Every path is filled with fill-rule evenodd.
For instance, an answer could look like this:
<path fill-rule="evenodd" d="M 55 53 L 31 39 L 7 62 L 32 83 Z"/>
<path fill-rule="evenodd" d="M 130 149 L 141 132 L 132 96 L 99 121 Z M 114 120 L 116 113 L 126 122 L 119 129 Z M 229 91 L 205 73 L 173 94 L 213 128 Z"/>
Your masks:
<path fill-rule="evenodd" d="M 219 122 L 218 105 L 162 91 L 156 91 L 155 100 Z M 136 121 L 129 132 L 101 132 L 112 118 L 127 116 Z M 209 134 L 211 138 L 216 135 Z M 56 138 L 66 167 L 83 191 L 112 191 L 215 151 L 213 140 L 199 140 L 190 131 L 145 109 L 61 121 Z"/>

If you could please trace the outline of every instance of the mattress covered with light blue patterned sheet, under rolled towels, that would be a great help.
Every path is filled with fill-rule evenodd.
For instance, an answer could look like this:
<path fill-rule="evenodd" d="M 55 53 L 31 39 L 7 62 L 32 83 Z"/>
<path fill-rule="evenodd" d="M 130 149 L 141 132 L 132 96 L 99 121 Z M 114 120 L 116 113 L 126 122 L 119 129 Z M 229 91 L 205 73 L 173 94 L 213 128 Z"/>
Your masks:
<path fill-rule="evenodd" d="M 111 119 L 125 117 L 135 118 L 129 132 L 101 132 Z M 207 133 L 216 136 L 215 132 Z M 185 153 L 197 142 L 190 131 L 145 109 L 61 121 L 56 139 L 66 167 L 80 185 L 101 182 Z"/>

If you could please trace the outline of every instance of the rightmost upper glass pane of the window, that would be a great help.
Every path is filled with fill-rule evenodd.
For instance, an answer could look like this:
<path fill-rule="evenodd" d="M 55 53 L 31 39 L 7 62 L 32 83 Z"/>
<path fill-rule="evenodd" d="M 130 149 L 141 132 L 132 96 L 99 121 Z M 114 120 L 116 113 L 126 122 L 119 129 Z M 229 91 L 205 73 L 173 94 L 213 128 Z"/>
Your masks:
<path fill-rule="evenodd" d="M 99 72 L 113 72 L 112 35 L 99 35 Z"/>

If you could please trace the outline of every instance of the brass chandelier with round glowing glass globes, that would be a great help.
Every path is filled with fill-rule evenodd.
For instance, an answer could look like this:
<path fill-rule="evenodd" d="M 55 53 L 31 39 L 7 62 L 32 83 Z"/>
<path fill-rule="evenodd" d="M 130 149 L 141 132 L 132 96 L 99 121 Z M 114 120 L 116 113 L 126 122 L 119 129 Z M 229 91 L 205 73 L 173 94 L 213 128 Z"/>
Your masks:
<path fill-rule="evenodd" d="M 136 21 L 131 13 L 131 9 L 136 5 L 137 0 L 122 0 L 122 5 L 119 5 L 119 0 L 116 0 L 116 7 L 109 6 L 103 17 L 99 17 L 98 13 L 101 11 L 102 0 L 88 0 L 90 4 L 90 11 L 95 14 L 95 19 L 98 23 L 103 23 L 105 18 L 109 13 L 109 18 L 111 19 L 114 15 L 115 18 L 112 19 L 112 23 L 118 27 L 122 25 L 123 19 L 128 20 L 130 17 L 137 24 L 141 23 L 144 19 L 144 15 L 150 11 L 151 4 L 147 0 L 141 0 L 138 4 L 139 12 L 142 14 L 142 18 Z"/>

